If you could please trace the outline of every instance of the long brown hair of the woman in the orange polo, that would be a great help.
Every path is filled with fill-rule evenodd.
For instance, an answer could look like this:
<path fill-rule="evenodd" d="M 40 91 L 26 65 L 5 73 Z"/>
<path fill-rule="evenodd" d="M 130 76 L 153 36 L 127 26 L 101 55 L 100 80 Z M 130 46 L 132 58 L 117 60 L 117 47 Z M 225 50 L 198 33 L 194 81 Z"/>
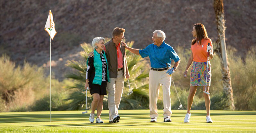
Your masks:
<path fill-rule="evenodd" d="M 191 44 L 194 45 L 195 42 L 199 41 L 199 45 L 201 45 L 201 40 L 208 38 L 207 31 L 205 29 L 205 26 L 201 23 L 194 24 L 195 31 L 197 32 L 197 38 L 193 39 Z"/>

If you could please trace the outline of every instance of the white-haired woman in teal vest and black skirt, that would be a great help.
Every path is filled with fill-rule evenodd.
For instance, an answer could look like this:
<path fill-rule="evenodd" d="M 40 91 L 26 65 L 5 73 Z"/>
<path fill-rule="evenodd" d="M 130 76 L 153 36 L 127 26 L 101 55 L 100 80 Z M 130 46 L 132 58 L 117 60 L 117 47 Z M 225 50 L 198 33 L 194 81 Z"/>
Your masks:
<path fill-rule="evenodd" d="M 93 39 L 91 45 L 94 48 L 94 57 L 87 59 L 86 82 L 85 89 L 90 89 L 93 96 L 91 102 L 91 114 L 89 121 L 94 122 L 94 111 L 97 108 L 96 123 L 103 123 L 101 119 L 101 112 L 103 109 L 103 98 L 107 94 L 106 86 L 109 82 L 109 69 L 107 66 L 107 58 L 104 52 L 105 39 L 96 37 Z"/>

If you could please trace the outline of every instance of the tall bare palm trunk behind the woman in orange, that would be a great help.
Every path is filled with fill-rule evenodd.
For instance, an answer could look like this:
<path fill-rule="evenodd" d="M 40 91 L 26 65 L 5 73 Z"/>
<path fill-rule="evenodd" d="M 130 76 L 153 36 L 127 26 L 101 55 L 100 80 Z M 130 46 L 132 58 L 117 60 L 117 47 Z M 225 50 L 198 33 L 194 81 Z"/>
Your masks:
<path fill-rule="evenodd" d="M 222 66 L 222 81 L 223 81 L 223 92 L 226 95 L 228 101 L 229 109 L 235 110 L 234 99 L 233 99 L 233 89 L 231 86 L 231 77 L 229 70 L 229 63 L 226 52 L 226 42 L 225 42 L 225 19 L 224 19 L 224 8 L 223 0 L 214 0 L 214 10 L 216 16 L 216 24 L 218 31 L 218 40 L 216 41 L 217 48 L 214 50 L 215 53 L 221 59 Z"/>

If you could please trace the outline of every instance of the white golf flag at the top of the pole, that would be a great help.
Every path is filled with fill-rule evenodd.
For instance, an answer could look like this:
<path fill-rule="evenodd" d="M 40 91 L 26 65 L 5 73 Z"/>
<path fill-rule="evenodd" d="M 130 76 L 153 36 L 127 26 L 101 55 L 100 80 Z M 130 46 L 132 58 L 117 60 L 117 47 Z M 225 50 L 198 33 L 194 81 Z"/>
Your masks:
<path fill-rule="evenodd" d="M 54 36 L 57 34 L 55 30 L 55 23 L 53 22 L 53 14 L 51 10 L 49 11 L 49 15 L 45 24 L 45 31 L 51 36 L 51 40 L 53 40 Z"/>

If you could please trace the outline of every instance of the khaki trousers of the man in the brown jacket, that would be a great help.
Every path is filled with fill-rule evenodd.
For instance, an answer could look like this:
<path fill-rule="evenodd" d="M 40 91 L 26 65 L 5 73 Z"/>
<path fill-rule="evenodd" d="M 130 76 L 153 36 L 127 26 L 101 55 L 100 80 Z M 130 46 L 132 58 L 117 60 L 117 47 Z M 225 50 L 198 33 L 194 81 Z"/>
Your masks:
<path fill-rule="evenodd" d="M 117 78 L 109 79 L 110 82 L 107 82 L 107 91 L 109 92 L 107 105 L 109 107 L 109 120 L 111 121 L 115 116 L 118 115 L 118 107 L 123 94 L 123 71 L 118 71 Z"/>

